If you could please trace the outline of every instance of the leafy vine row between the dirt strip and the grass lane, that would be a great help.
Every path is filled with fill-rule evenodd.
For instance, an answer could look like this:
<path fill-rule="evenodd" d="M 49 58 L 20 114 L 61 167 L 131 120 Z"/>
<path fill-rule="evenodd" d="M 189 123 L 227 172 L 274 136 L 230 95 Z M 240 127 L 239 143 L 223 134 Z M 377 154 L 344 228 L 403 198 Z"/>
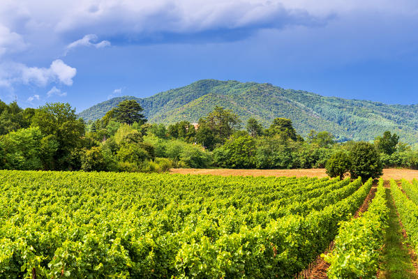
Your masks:
<path fill-rule="evenodd" d="M 328 278 L 375 278 L 389 218 L 386 203 L 381 179 L 366 213 L 341 224 L 334 250 L 324 257 L 331 264 Z"/>

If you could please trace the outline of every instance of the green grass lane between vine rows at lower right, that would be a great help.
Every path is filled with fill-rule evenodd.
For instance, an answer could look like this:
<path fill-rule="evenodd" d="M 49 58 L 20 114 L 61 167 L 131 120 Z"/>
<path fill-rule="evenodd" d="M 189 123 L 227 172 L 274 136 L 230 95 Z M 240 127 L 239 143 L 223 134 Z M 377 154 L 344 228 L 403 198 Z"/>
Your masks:
<path fill-rule="evenodd" d="M 386 230 L 385 248 L 380 264 L 380 279 L 417 278 L 408 248 L 403 244 L 403 235 L 399 218 L 396 214 L 394 199 L 390 189 L 386 189 L 389 212 L 389 227 Z"/>

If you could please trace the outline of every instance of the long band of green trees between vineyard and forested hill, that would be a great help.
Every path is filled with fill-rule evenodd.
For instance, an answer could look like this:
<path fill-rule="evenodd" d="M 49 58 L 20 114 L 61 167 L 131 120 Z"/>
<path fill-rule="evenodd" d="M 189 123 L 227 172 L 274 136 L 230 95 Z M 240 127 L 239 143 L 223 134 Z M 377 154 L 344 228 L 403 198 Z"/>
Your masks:
<path fill-rule="evenodd" d="M 362 147 L 361 147 L 362 146 Z M 365 147 L 366 146 L 366 147 Z M 290 119 L 268 128 L 242 123 L 215 107 L 197 123 L 147 123 L 135 100 L 124 100 L 97 121 L 85 123 L 64 103 L 23 110 L 0 102 L 0 168 L 163 172 L 170 167 L 291 169 L 326 167 L 350 172 L 357 149 L 380 167 L 418 168 L 418 153 L 386 131 L 373 142 L 335 141 L 327 131 L 297 134 Z M 360 156 L 363 158 L 364 156 Z M 359 157 L 359 158 L 360 158 Z M 363 174 L 364 175 L 364 174 Z"/>

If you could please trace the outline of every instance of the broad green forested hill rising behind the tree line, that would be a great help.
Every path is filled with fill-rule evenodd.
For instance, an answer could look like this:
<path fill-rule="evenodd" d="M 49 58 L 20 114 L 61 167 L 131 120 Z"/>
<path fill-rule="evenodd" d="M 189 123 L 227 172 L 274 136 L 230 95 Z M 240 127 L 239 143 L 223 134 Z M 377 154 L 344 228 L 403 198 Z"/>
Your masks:
<path fill-rule="evenodd" d="M 418 105 L 324 97 L 255 82 L 200 80 L 149 98 L 112 98 L 79 116 L 85 121 L 99 119 L 126 99 L 138 100 L 151 123 L 197 122 L 218 105 L 238 114 L 243 123 L 254 117 L 267 127 L 276 117 L 292 119 L 303 136 L 313 129 L 327 130 L 338 140 L 373 140 L 390 130 L 400 135 L 403 142 L 418 142 Z"/>

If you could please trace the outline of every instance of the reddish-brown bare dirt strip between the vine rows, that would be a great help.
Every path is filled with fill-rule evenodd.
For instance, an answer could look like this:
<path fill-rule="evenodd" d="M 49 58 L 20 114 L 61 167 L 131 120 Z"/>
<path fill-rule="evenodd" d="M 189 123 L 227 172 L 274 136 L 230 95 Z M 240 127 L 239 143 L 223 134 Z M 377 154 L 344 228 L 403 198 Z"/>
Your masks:
<path fill-rule="evenodd" d="M 368 193 L 366 199 L 364 199 L 363 204 L 357 209 L 356 213 L 354 214 L 354 218 L 358 218 L 360 213 L 364 213 L 368 209 L 368 205 L 371 203 L 373 198 L 375 197 L 375 193 L 377 191 L 376 185 L 373 185 L 370 192 Z M 328 252 L 332 252 L 334 248 L 334 241 L 329 244 L 328 251 L 324 252 L 327 254 Z M 298 279 L 327 279 L 327 270 L 329 268 L 329 263 L 325 262 L 324 259 L 320 256 L 315 261 L 315 264 L 311 269 L 306 271 L 302 271 L 301 274 L 298 276 Z"/>

